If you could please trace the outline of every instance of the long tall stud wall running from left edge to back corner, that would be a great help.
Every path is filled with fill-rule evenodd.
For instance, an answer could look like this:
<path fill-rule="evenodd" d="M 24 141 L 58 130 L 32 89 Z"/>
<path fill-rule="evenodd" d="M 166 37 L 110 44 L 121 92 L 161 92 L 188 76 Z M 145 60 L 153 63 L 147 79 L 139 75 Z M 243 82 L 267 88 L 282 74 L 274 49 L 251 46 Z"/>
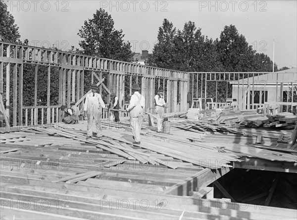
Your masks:
<path fill-rule="evenodd" d="M 23 64 L 29 63 L 35 66 L 35 86 L 34 86 L 34 106 L 23 106 Z M 6 65 L 6 82 L 3 82 L 3 68 Z M 37 102 L 37 80 L 39 66 L 48 67 L 48 88 L 47 88 L 47 105 L 38 106 Z M 50 74 L 51 68 L 59 69 L 59 97 L 58 105 L 50 106 Z M 13 82 L 10 82 L 10 68 L 13 68 Z M 84 97 L 84 71 L 92 71 L 92 81 L 97 82 L 102 79 L 102 72 L 107 72 L 107 85 L 103 82 L 99 85 L 99 92 L 105 89 L 109 94 L 114 92 L 120 100 L 120 107 L 125 108 L 125 80 L 129 80 L 130 85 L 134 83 L 132 76 L 136 75 L 137 79 L 142 82 L 142 94 L 146 99 L 146 110 L 154 108 L 154 91 L 155 80 L 163 81 L 166 86 L 167 103 L 169 109 L 167 112 L 186 111 L 187 110 L 187 92 L 189 84 L 189 73 L 175 71 L 151 66 L 144 66 L 131 62 L 123 62 L 112 59 L 99 58 L 80 54 L 71 54 L 61 51 L 53 51 L 45 48 L 37 48 L 25 45 L 10 44 L 0 41 L 0 93 L 3 93 L 3 86 L 6 87 L 6 112 L 9 115 L 9 105 L 12 105 L 11 114 L 13 126 L 16 125 L 37 125 L 39 122 L 38 112 L 42 112 L 42 124 L 44 120 L 47 123 L 60 121 L 60 112 L 58 108 L 70 101 L 78 102 Z M 180 85 L 181 102 L 177 103 L 177 81 Z M 13 100 L 9 100 L 9 93 L 13 83 Z M 17 86 L 18 85 L 18 86 Z M 67 91 L 67 92 L 66 92 Z M 18 94 L 18 96 L 17 96 Z M 108 104 L 109 97 L 107 100 Z M 80 107 L 83 105 L 80 103 Z M 17 114 L 18 112 L 18 114 Z M 45 113 L 46 112 L 46 113 Z M 25 114 L 25 119 L 23 119 Z M 29 119 L 31 114 L 31 120 Z M 46 118 L 44 117 L 46 115 Z M 11 120 L 12 119 L 12 120 Z"/>

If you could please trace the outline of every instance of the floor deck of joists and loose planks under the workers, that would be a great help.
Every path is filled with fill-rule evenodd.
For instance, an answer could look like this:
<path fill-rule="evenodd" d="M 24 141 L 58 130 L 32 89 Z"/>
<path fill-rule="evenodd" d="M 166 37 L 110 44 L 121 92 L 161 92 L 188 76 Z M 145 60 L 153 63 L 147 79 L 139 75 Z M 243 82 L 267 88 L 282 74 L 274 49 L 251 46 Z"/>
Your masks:
<path fill-rule="evenodd" d="M 86 121 L 1 134 L 0 190 L 1 203 L 6 204 L 1 215 L 10 217 L 12 209 L 15 217 L 30 219 L 46 219 L 45 212 L 51 219 L 178 219 L 184 210 L 183 219 L 296 216 L 296 210 L 241 209 L 245 204 L 188 196 L 233 166 L 257 168 L 246 160 L 265 161 L 268 166 L 260 168 L 266 170 L 282 163 L 296 172 L 296 151 L 274 142 L 281 135 L 290 137 L 290 131 L 230 130 L 184 119 L 171 119 L 171 125 L 171 134 L 143 129 L 141 146 L 132 145 L 126 123 L 106 121 L 102 141 L 85 140 Z M 250 144 L 256 132 L 263 136 L 266 149 Z M 19 203 L 17 209 L 13 206 L 17 201 L 35 201 L 35 207 L 25 209 Z M 45 201 L 50 204 L 47 209 Z M 228 208 L 218 209 L 223 204 Z"/>

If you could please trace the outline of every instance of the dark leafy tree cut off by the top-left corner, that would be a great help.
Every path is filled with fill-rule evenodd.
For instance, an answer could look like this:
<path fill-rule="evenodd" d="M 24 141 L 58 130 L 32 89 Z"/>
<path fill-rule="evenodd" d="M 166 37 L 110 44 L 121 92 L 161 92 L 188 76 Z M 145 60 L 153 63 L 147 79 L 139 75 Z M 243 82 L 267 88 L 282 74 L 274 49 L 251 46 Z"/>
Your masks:
<path fill-rule="evenodd" d="M 7 11 L 7 5 L 0 1 L 0 40 L 17 43 L 20 38 L 18 26 L 13 16 Z"/>

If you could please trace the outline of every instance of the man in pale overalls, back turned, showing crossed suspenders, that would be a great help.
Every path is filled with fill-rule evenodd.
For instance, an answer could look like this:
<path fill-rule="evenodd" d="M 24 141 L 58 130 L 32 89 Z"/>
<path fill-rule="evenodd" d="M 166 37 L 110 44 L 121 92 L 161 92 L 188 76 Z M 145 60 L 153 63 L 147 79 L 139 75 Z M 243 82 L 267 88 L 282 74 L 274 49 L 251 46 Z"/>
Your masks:
<path fill-rule="evenodd" d="M 130 126 L 133 139 L 135 140 L 133 144 L 140 144 L 140 130 L 145 108 L 145 97 L 139 93 L 141 88 L 137 83 L 134 83 L 131 89 L 133 95 L 131 96 L 130 104 L 126 110 L 130 115 Z"/>

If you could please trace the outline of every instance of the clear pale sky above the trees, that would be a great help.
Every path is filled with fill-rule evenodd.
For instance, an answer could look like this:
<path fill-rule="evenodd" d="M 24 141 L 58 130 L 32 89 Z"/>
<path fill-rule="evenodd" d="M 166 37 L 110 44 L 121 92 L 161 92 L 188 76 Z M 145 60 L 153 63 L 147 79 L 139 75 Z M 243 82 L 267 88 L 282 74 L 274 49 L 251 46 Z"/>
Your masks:
<path fill-rule="evenodd" d="M 278 67 L 297 67 L 296 0 L 4 0 L 19 26 L 21 40 L 32 46 L 79 48 L 84 21 L 102 7 L 122 29 L 132 51 L 152 52 L 158 28 L 167 18 L 182 30 L 195 22 L 208 38 L 219 38 L 225 25 L 235 25 L 258 53 L 273 57 Z"/>

